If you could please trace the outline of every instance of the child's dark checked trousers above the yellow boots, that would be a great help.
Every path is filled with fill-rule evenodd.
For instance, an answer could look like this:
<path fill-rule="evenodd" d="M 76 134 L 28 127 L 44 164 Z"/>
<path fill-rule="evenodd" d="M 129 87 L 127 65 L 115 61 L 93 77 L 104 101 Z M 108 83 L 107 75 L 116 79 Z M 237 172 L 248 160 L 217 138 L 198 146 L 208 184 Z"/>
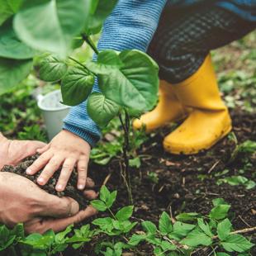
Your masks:
<path fill-rule="evenodd" d="M 159 64 L 161 79 L 179 83 L 197 72 L 211 50 L 242 38 L 255 27 L 256 22 L 220 7 L 167 6 L 148 53 Z"/>

